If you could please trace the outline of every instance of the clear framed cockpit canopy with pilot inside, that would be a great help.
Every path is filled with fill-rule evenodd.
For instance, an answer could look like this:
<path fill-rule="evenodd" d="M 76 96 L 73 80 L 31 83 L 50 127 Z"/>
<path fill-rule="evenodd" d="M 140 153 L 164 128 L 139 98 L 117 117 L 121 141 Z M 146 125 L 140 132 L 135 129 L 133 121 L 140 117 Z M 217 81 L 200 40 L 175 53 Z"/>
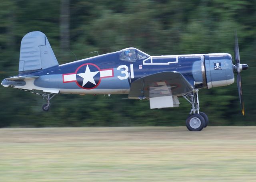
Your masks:
<path fill-rule="evenodd" d="M 150 56 L 134 47 L 122 49 L 121 51 L 118 51 L 118 52 L 119 52 L 120 60 L 127 61 L 127 62 L 136 62 L 138 60 L 146 59 Z"/>

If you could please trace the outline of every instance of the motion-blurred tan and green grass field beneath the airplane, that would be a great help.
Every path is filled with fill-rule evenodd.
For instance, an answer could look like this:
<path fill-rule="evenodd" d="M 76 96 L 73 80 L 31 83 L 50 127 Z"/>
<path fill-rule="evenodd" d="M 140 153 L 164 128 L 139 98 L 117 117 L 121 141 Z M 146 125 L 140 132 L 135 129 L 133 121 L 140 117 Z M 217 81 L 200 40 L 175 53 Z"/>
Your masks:
<path fill-rule="evenodd" d="M 256 182 L 256 127 L 0 129 L 0 182 Z"/>

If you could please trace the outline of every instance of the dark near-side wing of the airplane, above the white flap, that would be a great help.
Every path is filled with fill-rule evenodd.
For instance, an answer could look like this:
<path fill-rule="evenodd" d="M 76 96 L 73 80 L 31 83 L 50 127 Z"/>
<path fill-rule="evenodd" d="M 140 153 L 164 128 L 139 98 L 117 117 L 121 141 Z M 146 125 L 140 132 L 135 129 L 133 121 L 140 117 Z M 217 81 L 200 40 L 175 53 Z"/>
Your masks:
<path fill-rule="evenodd" d="M 165 71 L 144 76 L 132 82 L 128 98 L 159 98 L 162 96 L 182 96 L 194 91 L 190 82 L 180 72 Z"/>

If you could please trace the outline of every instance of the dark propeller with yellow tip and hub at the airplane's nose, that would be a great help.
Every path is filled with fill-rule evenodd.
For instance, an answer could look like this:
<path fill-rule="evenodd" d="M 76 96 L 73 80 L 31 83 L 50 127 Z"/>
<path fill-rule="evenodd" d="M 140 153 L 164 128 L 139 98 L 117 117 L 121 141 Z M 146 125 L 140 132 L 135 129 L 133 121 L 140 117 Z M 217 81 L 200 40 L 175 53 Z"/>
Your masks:
<path fill-rule="evenodd" d="M 244 115 L 244 100 L 243 100 L 243 95 L 242 95 L 242 78 L 241 78 L 240 72 L 242 70 L 247 70 L 248 65 L 240 64 L 240 55 L 239 55 L 239 47 L 238 47 L 238 39 L 237 39 L 236 31 L 234 33 L 234 38 L 235 38 L 234 53 L 235 53 L 235 61 L 236 61 L 236 65 L 234 65 L 234 70 L 235 70 L 235 72 L 237 72 L 236 82 L 237 82 L 237 88 L 238 88 L 238 94 L 239 94 L 239 98 L 240 98 L 242 114 Z"/>

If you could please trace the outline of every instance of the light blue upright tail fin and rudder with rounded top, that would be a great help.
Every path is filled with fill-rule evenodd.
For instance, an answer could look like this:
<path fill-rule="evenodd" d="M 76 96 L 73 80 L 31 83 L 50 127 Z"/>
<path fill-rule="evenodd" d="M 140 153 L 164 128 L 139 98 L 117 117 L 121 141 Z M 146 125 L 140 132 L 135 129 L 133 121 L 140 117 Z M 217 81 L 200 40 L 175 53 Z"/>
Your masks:
<path fill-rule="evenodd" d="M 19 72 L 45 69 L 57 65 L 58 61 L 44 33 L 32 31 L 22 38 Z"/>

